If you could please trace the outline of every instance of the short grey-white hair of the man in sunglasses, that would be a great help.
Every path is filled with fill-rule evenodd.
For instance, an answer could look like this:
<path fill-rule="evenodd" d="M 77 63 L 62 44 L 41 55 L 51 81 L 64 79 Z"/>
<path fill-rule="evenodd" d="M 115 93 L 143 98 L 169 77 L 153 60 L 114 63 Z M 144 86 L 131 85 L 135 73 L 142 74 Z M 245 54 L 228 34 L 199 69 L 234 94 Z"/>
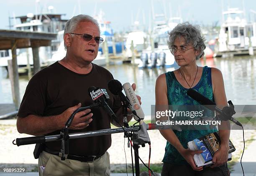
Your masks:
<path fill-rule="evenodd" d="M 77 16 L 74 16 L 70 20 L 67 21 L 67 23 L 64 27 L 64 34 L 63 35 L 65 35 L 67 33 L 74 32 L 80 22 L 91 22 L 91 23 L 95 24 L 99 28 L 99 31 L 100 31 L 99 23 L 93 17 L 91 17 L 89 15 L 77 15 Z M 67 46 L 66 46 L 65 42 L 64 42 L 64 47 L 65 47 L 65 50 L 66 50 Z"/>

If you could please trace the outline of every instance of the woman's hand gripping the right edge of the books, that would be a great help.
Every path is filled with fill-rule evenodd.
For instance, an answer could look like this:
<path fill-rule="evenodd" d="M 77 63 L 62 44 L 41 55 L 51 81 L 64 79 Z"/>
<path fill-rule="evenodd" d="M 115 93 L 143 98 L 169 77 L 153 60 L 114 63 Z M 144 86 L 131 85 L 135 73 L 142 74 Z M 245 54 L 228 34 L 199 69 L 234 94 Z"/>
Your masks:
<path fill-rule="evenodd" d="M 228 146 L 221 146 L 220 149 L 218 149 L 212 158 L 213 167 L 219 167 L 223 164 L 225 164 L 228 161 Z"/>

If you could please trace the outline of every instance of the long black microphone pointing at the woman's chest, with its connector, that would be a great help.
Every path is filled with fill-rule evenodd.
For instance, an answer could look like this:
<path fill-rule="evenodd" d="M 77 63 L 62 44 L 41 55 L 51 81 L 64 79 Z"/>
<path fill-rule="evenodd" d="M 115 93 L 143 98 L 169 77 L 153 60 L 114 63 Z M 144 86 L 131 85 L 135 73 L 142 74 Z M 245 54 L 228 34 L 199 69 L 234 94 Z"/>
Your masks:
<path fill-rule="evenodd" d="M 189 97 L 191 97 L 192 99 L 195 99 L 197 102 L 199 102 L 200 104 L 202 104 L 204 107 L 212 110 L 212 111 L 216 111 L 218 113 L 220 113 L 220 119 L 227 121 L 233 121 L 235 124 L 237 124 L 238 126 L 242 126 L 242 124 L 237 121 L 236 119 L 234 119 L 232 117 L 232 114 L 229 113 L 229 107 L 224 107 L 223 110 L 221 110 L 220 108 L 218 108 L 215 104 L 215 102 L 212 102 L 210 99 L 207 99 L 205 96 L 203 96 L 202 94 L 198 93 L 197 91 L 193 90 L 193 89 L 188 89 L 187 91 L 187 95 Z"/>

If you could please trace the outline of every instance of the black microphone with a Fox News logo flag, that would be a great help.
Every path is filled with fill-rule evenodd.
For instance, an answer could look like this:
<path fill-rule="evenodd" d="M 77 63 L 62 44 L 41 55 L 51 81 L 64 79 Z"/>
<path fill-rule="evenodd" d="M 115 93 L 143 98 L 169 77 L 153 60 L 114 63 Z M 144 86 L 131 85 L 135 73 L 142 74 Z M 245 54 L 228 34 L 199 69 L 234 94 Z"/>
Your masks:
<path fill-rule="evenodd" d="M 107 91 L 103 91 L 102 89 L 96 88 L 94 86 L 89 87 L 89 89 L 88 89 L 88 93 L 92 97 L 92 100 L 95 103 L 102 104 L 103 109 L 105 109 L 108 112 L 110 117 L 115 117 L 116 118 L 115 113 L 112 111 L 112 109 L 108 106 L 108 103 L 105 101 L 106 100 L 106 96 L 105 96 L 106 92 Z"/>

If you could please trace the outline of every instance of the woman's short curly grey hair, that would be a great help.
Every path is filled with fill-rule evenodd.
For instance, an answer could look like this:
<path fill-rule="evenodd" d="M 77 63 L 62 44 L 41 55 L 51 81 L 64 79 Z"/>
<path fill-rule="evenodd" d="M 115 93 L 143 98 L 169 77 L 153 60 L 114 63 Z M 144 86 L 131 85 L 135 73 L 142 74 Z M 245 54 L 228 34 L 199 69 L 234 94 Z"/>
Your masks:
<path fill-rule="evenodd" d="M 178 24 L 171 32 L 168 32 L 169 40 L 168 47 L 172 48 L 174 40 L 177 37 L 184 37 L 187 44 L 191 44 L 200 54 L 196 57 L 199 59 L 205 55 L 205 37 L 202 37 L 199 25 L 191 25 L 189 22 Z"/>

